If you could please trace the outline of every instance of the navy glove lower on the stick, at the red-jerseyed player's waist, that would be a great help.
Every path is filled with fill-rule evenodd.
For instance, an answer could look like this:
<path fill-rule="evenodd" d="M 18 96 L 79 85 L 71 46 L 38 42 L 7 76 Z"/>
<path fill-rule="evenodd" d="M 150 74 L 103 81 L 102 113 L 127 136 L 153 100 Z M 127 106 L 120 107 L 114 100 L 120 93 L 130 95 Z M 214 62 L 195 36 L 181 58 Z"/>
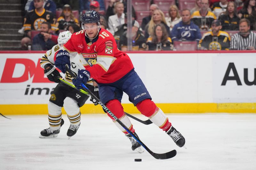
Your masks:
<path fill-rule="evenodd" d="M 87 83 L 87 81 L 90 78 L 90 72 L 87 70 L 78 70 L 77 77 L 73 78 L 72 82 L 76 86 L 77 89 L 82 89 L 83 87 L 81 84 L 84 85 Z"/>

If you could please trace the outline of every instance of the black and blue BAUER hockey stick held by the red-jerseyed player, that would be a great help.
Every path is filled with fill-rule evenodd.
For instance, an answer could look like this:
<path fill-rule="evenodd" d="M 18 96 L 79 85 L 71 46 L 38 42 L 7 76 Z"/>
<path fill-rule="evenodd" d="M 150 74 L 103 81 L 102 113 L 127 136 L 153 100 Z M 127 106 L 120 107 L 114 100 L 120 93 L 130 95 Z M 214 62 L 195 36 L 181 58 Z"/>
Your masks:
<path fill-rule="evenodd" d="M 69 74 L 72 76 L 72 77 L 76 77 L 76 75 L 68 68 L 68 66 L 66 65 L 66 70 L 69 72 Z M 141 146 L 143 148 L 145 148 L 146 151 L 148 151 L 154 158 L 156 159 L 169 159 L 169 158 L 172 158 L 174 157 L 177 152 L 176 150 L 172 150 L 170 152 L 166 152 L 166 153 L 154 153 L 152 152 L 145 144 L 143 144 L 143 142 L 138 138 L 136 137 L 129 128 L 127 128 L 124 123 L 122 123 L 109 109 L 108 107 L 106 107 L 103 103 L 100 102 L 100 100 L 82 83 L 81 86 L 84 88 L 84 90 L 86 92 L 88 92 L 93 99 L 95 99 L 99 104 L 100 106 L 109 114 L 111 115 L 115 120 L 116 122 L 118 122 L 135 140 L 138 141 L 138 143 L 141 144 Z"/>

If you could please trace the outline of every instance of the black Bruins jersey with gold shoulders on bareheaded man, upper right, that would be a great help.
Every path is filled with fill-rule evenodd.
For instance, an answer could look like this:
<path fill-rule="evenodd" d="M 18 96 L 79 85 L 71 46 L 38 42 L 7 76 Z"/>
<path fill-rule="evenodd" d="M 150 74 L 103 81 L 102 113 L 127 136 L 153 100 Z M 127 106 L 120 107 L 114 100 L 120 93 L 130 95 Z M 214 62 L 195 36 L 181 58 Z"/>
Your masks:
<path fill-rule="evenodd" d="M 212 21 L 216 19 L 216 16 L 211 11 L 208 11 L 205 17 L 202 17 L 200 11 L 195 11 L 191 15 L 191 20 L 200 28 L 200 30 L 209 30 L 212 25 Z"/>

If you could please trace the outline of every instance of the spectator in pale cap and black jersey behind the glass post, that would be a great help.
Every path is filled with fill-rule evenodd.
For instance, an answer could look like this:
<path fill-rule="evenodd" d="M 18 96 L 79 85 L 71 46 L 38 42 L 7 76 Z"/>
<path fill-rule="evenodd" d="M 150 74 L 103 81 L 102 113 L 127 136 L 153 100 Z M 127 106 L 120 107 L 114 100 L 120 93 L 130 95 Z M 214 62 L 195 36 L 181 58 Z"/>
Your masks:
<path fill-rule="evenodd" d="M 120 38 L 121 51 L 127 51 L 127 30 Z M 138 21 L 132 21 L 132 51 L 139 51 L 146 49 L 146 41 L 144 34 L 140 31 L 140 24 Z"/>

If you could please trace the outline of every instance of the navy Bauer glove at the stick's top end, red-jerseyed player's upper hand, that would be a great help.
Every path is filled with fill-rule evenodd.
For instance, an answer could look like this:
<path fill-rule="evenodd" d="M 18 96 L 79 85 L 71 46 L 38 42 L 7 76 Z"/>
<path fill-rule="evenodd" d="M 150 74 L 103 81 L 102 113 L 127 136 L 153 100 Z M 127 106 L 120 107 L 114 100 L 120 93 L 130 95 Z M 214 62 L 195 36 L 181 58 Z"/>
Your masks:
<path fill-rule="evenodd" d="M 68 64 L 68 68 L 70 68 L 70 57 L 69 53 L 66 50 L 60 50 L 56 54 L 56 60 L 54 62 L 54 65 L 60 69 L 62 73 L 66 72 L 66 64 Z"/>

